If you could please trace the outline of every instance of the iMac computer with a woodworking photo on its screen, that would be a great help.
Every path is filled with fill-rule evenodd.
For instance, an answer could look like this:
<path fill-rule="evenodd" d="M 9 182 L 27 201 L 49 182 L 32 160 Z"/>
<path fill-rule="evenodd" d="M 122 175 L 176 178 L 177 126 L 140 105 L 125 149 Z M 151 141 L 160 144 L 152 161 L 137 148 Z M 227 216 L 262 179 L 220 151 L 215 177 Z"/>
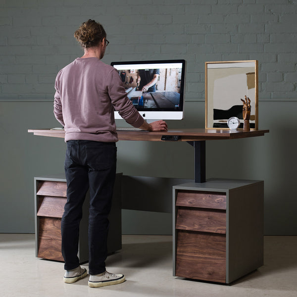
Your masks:
<path fill-rule="evenodd" d="M 128 98 L 148 120 L 183 118 L 185 60 L 112 62 Z M 121 116 L 115 111 L 115 118 Z"/>

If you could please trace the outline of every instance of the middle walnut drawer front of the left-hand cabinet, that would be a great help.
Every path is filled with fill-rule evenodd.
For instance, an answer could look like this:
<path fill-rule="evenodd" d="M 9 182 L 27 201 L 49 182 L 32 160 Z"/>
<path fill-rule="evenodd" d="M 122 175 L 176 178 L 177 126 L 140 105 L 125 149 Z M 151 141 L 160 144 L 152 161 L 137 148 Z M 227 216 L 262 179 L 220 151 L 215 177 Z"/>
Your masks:
<path fill-rule="evenodd" d="M 67 198 L 41 196 L 38 201 L 38 216 L 61 218 L 64 213 L 64 205 Z"/>

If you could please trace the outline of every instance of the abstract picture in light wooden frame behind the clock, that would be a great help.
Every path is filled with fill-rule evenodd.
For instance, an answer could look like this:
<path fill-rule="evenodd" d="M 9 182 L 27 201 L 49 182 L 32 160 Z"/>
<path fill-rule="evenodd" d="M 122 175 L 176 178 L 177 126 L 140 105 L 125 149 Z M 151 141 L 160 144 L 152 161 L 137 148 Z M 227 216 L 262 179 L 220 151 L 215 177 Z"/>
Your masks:
<path fill-rule="evenodd" d="M 250 99 L 250 128 L 258 130 L 258 61 L 205 62 L 205 129 L 229 129 L 227 120 L 243 114 L 241 99 Z"/>

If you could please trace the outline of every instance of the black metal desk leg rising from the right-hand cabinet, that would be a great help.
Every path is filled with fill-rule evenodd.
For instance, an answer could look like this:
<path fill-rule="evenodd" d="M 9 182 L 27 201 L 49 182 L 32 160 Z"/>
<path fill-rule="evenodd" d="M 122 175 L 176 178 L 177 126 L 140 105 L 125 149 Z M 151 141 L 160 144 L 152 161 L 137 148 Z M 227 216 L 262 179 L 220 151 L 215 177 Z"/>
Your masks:
<path fill-rule="evenodd" d="M 195 183 L 205 183 L 205 140 L 188 143 L 195 149 Z"/>

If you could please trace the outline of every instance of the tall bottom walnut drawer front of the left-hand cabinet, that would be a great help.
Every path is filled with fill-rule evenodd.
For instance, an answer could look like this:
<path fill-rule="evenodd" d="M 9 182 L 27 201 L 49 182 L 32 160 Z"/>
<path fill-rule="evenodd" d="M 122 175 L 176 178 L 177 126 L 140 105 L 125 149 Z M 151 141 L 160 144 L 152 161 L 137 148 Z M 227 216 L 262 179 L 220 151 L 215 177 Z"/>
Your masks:
<path fill-rule="evenodd" d="M 61 252 L 61 219 L 39 218 L 38 257 L 64 261 Z"/>

